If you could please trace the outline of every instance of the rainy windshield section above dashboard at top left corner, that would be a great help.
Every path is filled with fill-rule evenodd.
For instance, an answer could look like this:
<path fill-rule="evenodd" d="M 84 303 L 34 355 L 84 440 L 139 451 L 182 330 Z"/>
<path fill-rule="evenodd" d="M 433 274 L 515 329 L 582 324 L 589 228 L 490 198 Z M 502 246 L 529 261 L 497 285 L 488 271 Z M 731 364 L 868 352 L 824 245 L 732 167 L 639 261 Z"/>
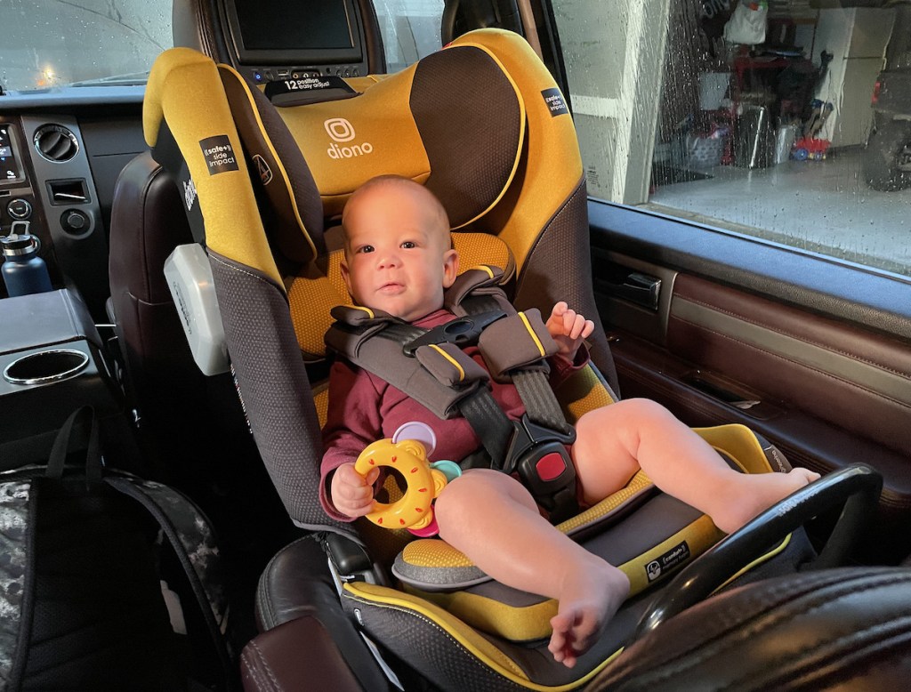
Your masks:
<path fill-rule="evenodd" d="M 0 85 L 144 83 L 172 46 L 171 0 L 0 0 Z"/>

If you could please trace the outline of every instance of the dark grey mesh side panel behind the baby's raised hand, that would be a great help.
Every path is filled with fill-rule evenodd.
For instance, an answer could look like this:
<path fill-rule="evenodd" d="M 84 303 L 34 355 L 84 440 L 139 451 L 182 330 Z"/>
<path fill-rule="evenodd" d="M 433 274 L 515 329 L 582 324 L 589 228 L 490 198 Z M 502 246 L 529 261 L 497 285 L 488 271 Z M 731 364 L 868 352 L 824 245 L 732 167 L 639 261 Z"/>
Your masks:
<path fill-rule="evenodd" d="M 584 230 L 580 233 L 579 229 Z M 514 302 L 518 310 L 537 308 L 542 315 L 548 315 L 554 302 L 566 300 L 570 308 L 594 321 L 595 331 L 589 337 L 591 360 L 619 395 L 617 371 L 592 291 L 588 229 L 588 192 L 583 179 L 550 219 L 528 254 Z M 555 262 L 559 271 L 554 271 Z"/>

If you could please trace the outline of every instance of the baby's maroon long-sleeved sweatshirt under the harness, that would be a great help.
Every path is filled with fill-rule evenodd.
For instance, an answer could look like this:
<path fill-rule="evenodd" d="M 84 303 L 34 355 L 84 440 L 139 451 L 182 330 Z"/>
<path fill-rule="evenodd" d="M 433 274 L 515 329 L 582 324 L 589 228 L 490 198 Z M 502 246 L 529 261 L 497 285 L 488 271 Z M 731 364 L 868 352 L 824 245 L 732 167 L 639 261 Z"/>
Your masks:
<path fill-rule="evenodd" d="M 432 329 L 455 319 L 448 310 L 436 310 L 414 322 L 415 327 Z M 467 355 L 485 368 L 486 364 L 476 346 L 465 349 Z M 550 384 L 557 386 L 572 372 L 589 361 L 588 350 L 581 346 L 575 362 L 556 355 L 550 363 Z M 492 393 L 510 420 L 518 420 L 525 406 L 512 383 L 490 381 Z M 332 473 L 343 463 L 354 462 L 364 447 L 376 440 L 392 437 L 405 422 L 419 421 L 430 426 L 436 435 L 436 448 L 430 461 L 450 459 L 459 462 L 481 446 L 471 425 L 461 417 L 441 420 L 423 404 L 385 382 L 372 372 L 362 370 L 340 358 L 333 363 L 329 374 L 329 412 L 322 428 L 325 453 L 320 467 L 320 501 L 333 519 L 352 521 L 333 507 L 329 494 Z"/>

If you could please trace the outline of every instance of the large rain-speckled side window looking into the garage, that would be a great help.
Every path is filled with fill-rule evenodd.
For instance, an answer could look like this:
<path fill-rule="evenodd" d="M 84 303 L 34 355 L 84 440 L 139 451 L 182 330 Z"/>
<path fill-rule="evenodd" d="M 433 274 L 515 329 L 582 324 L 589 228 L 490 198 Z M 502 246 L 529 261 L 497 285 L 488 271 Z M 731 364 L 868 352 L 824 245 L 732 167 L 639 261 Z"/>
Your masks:
<path fill-rule="evenodd" d="M 592 197 L 911 275 L 911 5 L 552 5 Z"/>

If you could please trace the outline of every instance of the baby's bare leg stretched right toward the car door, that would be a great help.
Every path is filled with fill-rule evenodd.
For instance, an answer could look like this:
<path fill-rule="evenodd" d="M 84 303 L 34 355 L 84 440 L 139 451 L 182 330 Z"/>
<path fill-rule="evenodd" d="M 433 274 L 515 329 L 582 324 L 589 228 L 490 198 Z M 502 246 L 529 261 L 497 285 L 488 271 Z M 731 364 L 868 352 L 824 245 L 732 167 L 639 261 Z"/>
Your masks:
<path fill-rule="evenodd" d="M 586 413 L 572 455 L 586 502 L 618 491 L 641 467 L 665 493 L 731 533 L 819 478 L 818 473 L 739 473 L 667 409 L 629 399 Z"/>

